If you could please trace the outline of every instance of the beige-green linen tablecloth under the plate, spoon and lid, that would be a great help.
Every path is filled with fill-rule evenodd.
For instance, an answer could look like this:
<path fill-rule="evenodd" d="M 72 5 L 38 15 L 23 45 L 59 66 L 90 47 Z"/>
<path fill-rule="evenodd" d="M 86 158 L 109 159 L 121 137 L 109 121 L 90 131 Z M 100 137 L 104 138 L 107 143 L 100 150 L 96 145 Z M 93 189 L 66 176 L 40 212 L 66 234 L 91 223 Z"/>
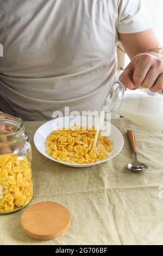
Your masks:
<path fill-rule="evenodd" d="M 162 245 L 163 132 L 147 132 L 124 118 L 112 120 L 124 136 L 124 148 L 113 160 L 90 168 L 71 168 L 42 156 L 34 147 L 43 122 L 26 122 L 33 146 L 35 196 L 61 203 L 71 213 L 70 229 L 57 239 L 37 241 L 23 233 L 23 212 L 0 216 L 1 245 Z M 134 173 L 127 130 L 134 130 L 139 160 L 150 168 Z M 162 185 L 162 187 L 161 187 Z"/>

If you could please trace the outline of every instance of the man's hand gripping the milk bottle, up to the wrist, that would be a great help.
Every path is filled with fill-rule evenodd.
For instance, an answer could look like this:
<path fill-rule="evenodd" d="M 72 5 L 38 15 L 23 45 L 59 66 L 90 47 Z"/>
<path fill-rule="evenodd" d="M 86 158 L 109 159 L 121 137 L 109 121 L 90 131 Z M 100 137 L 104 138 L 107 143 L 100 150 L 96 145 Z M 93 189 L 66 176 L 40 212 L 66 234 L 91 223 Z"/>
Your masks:
<path fill-rule="evenodd" d="M 163 61 L 151 53 L 138 54 L 121 74 L 120 82 L 129 89 L 143 87 L 163 92 Z"/>

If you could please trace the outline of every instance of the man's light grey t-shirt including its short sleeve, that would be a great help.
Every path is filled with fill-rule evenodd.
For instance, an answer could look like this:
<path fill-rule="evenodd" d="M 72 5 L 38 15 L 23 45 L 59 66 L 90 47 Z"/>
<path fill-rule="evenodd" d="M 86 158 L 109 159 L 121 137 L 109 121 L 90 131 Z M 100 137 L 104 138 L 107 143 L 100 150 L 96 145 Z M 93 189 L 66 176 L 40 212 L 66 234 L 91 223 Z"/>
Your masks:
<path fill-rule="evenodd" d="M 116 80 L 118 32 L 148 28 L 139 0 L 1 0 L 0 109 L 24 120 L 99 111 Z"/>

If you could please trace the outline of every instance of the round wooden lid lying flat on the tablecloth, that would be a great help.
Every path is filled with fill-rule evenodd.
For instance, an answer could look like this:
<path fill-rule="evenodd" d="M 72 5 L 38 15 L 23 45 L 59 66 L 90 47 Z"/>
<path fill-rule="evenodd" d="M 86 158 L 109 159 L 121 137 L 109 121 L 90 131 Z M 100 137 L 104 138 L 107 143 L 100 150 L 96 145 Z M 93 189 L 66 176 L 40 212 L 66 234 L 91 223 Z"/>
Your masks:
<path fill-rule="evenodd" d="M 50 240 L 70 227 L 70 213 L 58 203 L 36 203 L 23 212 L 21 225 L 27 235 L 39 240 Z"/>

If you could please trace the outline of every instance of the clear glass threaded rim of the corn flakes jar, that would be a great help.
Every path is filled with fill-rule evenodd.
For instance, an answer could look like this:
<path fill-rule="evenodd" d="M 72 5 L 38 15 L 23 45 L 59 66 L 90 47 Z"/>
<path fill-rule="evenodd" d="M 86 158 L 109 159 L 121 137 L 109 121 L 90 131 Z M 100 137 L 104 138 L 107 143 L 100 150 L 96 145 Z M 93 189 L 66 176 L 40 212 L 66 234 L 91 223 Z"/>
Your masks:
<path fill-rule="evenodd" d="M 13 140 L 14 137 L 18 138 L 24 132 L 23 120 L 21 118 L 16 117 L 15 115 L 0 113 L 0 124 L 13 125 L 17 127 L 16 131 L 0 132 L 0 138 L 4 136 L 12 137 Z"/>

